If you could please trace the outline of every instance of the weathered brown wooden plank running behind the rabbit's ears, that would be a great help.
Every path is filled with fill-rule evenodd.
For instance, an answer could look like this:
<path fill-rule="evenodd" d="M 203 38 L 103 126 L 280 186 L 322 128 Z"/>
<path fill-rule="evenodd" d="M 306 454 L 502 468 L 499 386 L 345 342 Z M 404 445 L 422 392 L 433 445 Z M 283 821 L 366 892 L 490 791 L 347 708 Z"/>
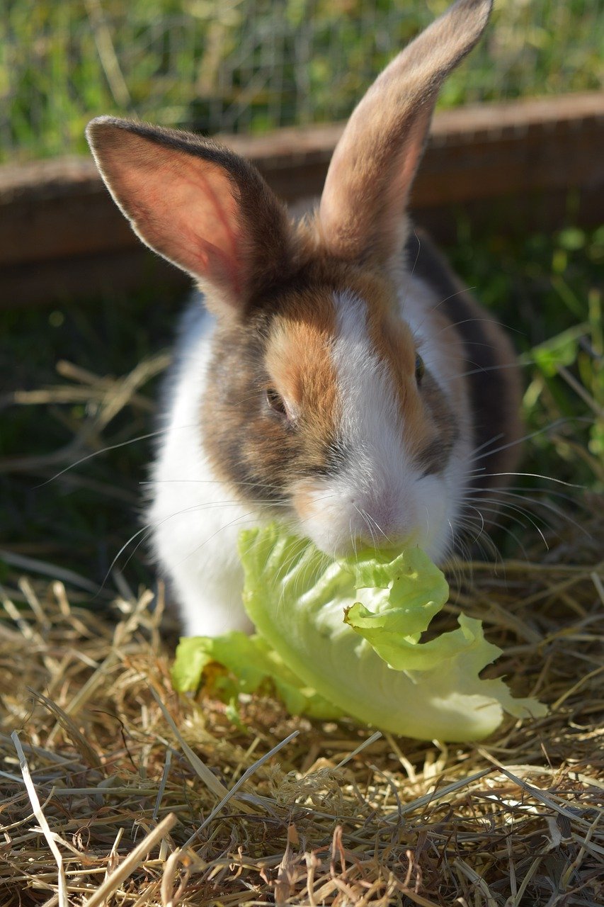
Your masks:
<path fill-rule="evenodd" d="M 284 129 L 221 141 L 254 161 L 278 195 L 294 203 L 320 193 L 342 129 L 342 124 Z M 533 221 L 539 213 L 541 226 L 555 227 L 560 202 L 573 190 L 577 216 L 589 225 L 601 221 L 604 209 L 602 149 L 604 95 L 599 93 L 438 112 L 412 207 L 420 221 L 435 224 L 437 235 L 448 232 L 454 208 L 480 220 L 488 218 L 495 200 L 511 197 L 518 202 L 508 206 L 511 215 L 525 209 Z M 538 212 L 529 196 L 540 199 Z M 93 275 L 103 275 L 105 259 L 116 268 L 118 287 L 124 281 L 130 285 L 135 273 L 144 278 L 150 268 L 92 159 L 0 167 L 0 304 L 94 292 L 99 285 Z M 130 267 L 118 267 L 125 260 Z M 163 274 L 173 282 L 170 266 L 158 268 L 154 279 Z"/>

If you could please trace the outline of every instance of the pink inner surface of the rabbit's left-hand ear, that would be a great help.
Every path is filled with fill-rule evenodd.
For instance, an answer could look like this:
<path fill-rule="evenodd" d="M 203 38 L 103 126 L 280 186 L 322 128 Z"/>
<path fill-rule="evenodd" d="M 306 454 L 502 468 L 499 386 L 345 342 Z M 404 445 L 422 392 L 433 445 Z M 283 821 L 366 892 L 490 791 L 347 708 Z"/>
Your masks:
<path fill-rule="evenodd" d="M 103 171 L 141 239 L 202 283 L 238 296 L 242 225 L 224 169 L 129 132 L 120 139 L 102 154 Z"/>

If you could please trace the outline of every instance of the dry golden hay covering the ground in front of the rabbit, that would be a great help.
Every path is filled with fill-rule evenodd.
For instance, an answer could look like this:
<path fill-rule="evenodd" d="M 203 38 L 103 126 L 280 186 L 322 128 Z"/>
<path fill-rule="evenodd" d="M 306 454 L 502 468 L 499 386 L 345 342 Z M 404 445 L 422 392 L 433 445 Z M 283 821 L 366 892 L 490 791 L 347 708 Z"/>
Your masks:
<path fill-rule="evenodd" d="M 482 745 L 312 724 L 268 692 L 233 724 L 172 690 L 161 598 L 118 600 L 107 619 L 58 580 L 22 579 L 0 624 L 0 903 L 601 904 L 591 522 L 591 542 L 569 530 L 541 564 L 465 571 L 454 600 L 505 649 L 498 673 L 550 704 Z"/>

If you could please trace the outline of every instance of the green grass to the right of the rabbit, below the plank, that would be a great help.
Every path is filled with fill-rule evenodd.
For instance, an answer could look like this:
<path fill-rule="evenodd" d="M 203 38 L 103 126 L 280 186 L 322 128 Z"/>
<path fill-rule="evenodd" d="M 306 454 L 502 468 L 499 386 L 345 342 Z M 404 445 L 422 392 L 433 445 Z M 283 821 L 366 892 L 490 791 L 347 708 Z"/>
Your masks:
<path fill-rule="evenodd" d="M 531 442 L 531 469 L 604 490 L 604 228 L 517 238 L 493 231 L 481 241 L 462 230 L 450 251 L 521 354 L 525 421 L 542 433 Z"/>

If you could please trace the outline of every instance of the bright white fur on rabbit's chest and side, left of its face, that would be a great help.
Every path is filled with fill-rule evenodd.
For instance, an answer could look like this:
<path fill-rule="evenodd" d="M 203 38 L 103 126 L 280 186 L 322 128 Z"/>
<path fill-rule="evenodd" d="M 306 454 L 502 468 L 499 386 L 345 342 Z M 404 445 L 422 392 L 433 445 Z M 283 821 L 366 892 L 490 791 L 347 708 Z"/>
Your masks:
<path fill-rule="evenodd" d="M 184 338 L 167 431 L 151 475 L 148 512 L 155 554 L 173 583 L 191 636 L 218 636 L 251 626 L 241 603 L 237 537 L 241 528 L 258 520 L 233 501 L 203 453 L 200 407 L 212 328 L 213 319 L 206 314 L 197 319 L 193 336 Z"/>

